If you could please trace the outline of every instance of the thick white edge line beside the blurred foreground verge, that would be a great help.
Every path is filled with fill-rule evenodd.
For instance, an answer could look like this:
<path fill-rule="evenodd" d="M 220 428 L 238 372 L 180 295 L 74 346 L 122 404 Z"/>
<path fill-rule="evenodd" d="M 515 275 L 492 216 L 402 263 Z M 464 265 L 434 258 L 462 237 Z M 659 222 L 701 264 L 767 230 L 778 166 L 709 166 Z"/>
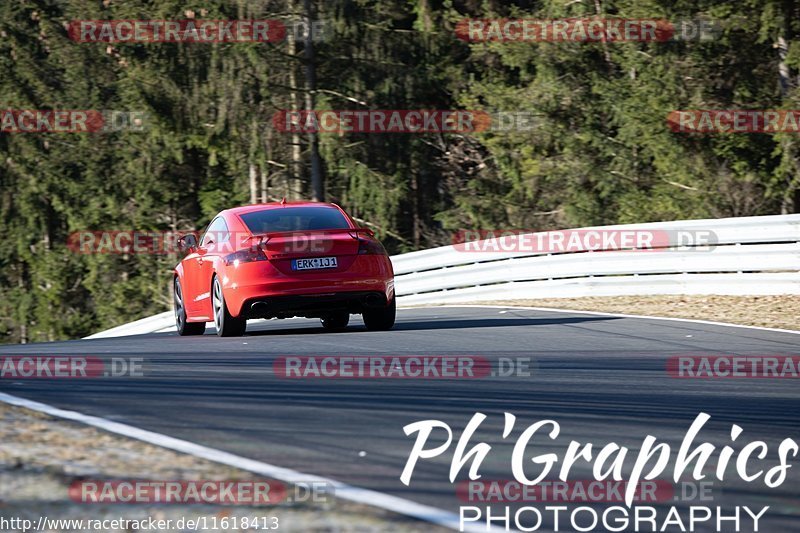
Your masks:
<path fill-rule="evenodd" d="M 122 424 L 120 422 L 114 422 L 99 416 L 85 415 L 77 411 L 67 411 L 65 409 L 53 407 L 52 405 L 45 403 L 27 400 L 18 396 L 12 396 L 11 394 L 6 394 L 4 392 L 0 392 L 0 402 L 7 403 L 9 405 L 15 405 L 17 407 L 25 407 L 27 409 L 32 409 L 34 411 L 58 418 L 64 418 L 66 420 L 80 422 L 88 426 L 94 426 L 104 431 L 108 431 L 109 433 L 124 435 L 126 437 L 147 442 L 149 444 L 154 444 L 162 448 L 175 450 L 177 452 L 186 453 L 195 457 L 201 457 L 203 459 L 208 459 L 209 461 L 233 466 L 241 470 L 247 470 L 248 472 L 261 474 L 263 476 L 277 479 L 279 481 L 285 481 L 287 483 L 326 483 L 328 486 L 333 487 L 333 494 L 335 497 L 371 507 L 378 507 L 393 513 L 402 514 L 404 516 L 409 516 L 418 520 L 423 520 L 425 522 L 430 522 L 448 529 L 459 531 L 458 515 L 442 509 L 437 509 L 436 507 L 431 507 L 429 505 L 422 505 L 420 503 L 412 502 L 411 500 L 406 500 L 405 498 L 398 498 L 397 496 L 391 496 L 382 492 L 354 487 L 333 479 L 304 474 L 296 470 L 271 465 L 269 463 L 262 463 L 261 461 L 248 459 L 246 457 L 224 452 L 222 450 L 217 450 L 215 448 L 209 448 L 207 446 L 195 444 L 187 440 L 176 439 L 168 435 L 147 431 L 146 429 L 140 429 L 127 424 Z M 453 499 L 455 501 L 455 487 L 453 489 Z M 477 524 L 465 524 L 464 529 L 460 531 L 468 531 L 471 533 L 499 533 L 502 531 L 508 532 L 509 530 L 494 526 L 492 529 L 487 529 L 485 525 L 478 526 Z"/>

